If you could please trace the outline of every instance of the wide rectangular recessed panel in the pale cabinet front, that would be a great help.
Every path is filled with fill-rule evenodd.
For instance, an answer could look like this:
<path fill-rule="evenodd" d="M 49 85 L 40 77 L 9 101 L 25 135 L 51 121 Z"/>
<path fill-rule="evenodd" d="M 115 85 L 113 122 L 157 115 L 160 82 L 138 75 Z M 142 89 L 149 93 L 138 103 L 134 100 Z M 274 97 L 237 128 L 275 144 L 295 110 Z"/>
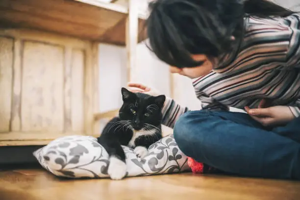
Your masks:
<path fill-rule="evenodd" d="M 24 43 L 23 131 L 63 130 L 63 52 L 61 46 Z"/>

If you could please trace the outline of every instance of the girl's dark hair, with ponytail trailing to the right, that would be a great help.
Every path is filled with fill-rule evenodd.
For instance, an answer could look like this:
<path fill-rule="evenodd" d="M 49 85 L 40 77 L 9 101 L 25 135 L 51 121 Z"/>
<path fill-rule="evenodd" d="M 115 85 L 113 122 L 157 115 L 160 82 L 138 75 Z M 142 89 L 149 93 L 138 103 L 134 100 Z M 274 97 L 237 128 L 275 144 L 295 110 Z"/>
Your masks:
<path fill-rule="evenodd" d="M 295 13 L 269 0 L 154 0 L 149 7 L 149 48 L 177 67 L 201 65 L 192 54 L 212 58 L 233 50 L 243 37 L 247 15 L 270 18 Z"/>

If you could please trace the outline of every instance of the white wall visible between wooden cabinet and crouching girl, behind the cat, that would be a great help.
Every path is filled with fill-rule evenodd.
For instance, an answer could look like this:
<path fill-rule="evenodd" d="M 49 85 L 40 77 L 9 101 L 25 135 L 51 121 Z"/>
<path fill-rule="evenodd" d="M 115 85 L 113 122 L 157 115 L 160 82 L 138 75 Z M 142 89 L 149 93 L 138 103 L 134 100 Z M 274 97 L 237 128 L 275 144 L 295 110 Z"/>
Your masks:
<path fill-rule="evenodd" d="M 137 82 L 153 87 L 171 96 L 171 80 L 168 65 L 156 58 L 145 44 L 138 45 Z M 118 109 L 122 105 L 121 87 L 126 86 L 126 51 L 123 47 L 100 44 L 100 112 Z M 174 99 L 191 110 L 201 108 L 191 79 L 173 75 Z"/>

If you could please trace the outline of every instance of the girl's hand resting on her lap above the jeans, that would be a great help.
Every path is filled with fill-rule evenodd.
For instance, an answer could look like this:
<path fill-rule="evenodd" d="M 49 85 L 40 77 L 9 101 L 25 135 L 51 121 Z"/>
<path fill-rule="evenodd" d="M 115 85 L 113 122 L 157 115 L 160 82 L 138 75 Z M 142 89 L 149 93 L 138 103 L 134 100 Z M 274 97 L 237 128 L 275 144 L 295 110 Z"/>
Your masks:
<path fill-rule="evenodd" d="M 258 108 L 250 109 L 248 106 L 245 110 L 255 121 L 264 126 L 286 125 L 295 119 L 294 114 L 288 106 L 265 107 L 266 100 L 262 100 Z"/>

